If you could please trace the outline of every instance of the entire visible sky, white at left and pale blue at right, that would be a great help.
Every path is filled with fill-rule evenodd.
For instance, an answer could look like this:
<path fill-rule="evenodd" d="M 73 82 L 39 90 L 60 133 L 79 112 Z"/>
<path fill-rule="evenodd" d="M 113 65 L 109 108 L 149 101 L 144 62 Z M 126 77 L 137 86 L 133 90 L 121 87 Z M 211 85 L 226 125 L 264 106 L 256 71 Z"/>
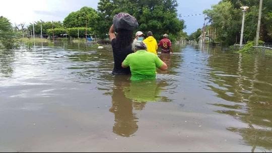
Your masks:
<path fill-rule="evenodd" d="M 34 21 L 63 21 L 71 12 L 88 6 L 97 10 L 99 0 L 5 0 L 0 2 L 0 16 L 4 16 L 13 24 Z M 177 13 L 181 16 L 202 14 L 203 10 L 210 9 L 220 0 L 177 0 Z M 201 28 L 204 15 L 181 18 L 185 21 L 188 34 Z"/>

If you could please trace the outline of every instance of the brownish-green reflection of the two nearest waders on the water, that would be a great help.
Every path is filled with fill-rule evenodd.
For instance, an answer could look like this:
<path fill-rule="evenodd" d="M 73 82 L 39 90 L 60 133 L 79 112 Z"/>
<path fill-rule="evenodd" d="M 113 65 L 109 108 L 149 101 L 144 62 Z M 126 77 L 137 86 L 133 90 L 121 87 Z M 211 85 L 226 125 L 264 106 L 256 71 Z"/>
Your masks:
<path fill-rule="evenodd" d="M 138 130 L 137 114 L 134 110 L 143 110 L 147 102 L 171 102 L 171 99 L 160 96 L 166 82 L 156 80 L 143 80 L 130 82 L 129 75 L 115 75 L 113 77 L 111 95 L 112 107 L 109 109 L 114 113 L 113 132 L 124 137 L 133 136 Z"/>

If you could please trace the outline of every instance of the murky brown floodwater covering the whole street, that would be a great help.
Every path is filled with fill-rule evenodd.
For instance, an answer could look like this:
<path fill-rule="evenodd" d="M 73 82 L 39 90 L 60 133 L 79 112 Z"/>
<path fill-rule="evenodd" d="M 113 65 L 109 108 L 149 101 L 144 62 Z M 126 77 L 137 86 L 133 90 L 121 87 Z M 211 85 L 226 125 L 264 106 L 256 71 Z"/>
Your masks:
<path fill-rule="evenodd" d="M 135 83 L 110 46 L 0 49 L 0 151 L 272 151 L 272 56 L 159 56 L 168 70 Z"/>

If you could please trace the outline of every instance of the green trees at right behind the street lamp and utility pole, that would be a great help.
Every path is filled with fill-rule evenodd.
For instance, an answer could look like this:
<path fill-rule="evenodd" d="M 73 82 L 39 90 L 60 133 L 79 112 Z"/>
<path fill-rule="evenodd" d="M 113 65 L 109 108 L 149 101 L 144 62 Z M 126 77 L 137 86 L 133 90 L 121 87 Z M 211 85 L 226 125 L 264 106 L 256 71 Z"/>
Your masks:
<path fill-rule="evenodd" d="M 217 40 L 225 45 L 237 43 L 240 39 L 242 11 L 240 7 L 248 6 L 245 14 L 244 40 L 253 41 L 258 23 L 259 1 L 257 0 L 222 0 L 212 9 L 203 13 L 208 16 L 213 29 L 217 29 Z M 263 0 L 260 40 L 272 42 L 272 1 Z"/>

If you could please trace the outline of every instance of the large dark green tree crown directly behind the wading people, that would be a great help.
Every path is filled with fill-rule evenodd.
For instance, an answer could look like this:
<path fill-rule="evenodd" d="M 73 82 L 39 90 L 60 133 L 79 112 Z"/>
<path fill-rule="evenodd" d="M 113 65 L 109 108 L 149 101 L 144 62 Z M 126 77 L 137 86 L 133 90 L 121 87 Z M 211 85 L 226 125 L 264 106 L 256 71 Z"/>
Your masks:
<path fill-rule="evenodd" d="M 108 32 L 105 29 L 111 26 L 113 16 L 125 12 L 138 20 L 137 30 L 146 34 L 152 31 L 157 39 L 167 33 L 173 35 L 174 39 L 185 28 L 184 21 L 177 18 L 176 7 L 176 0 L 101 0 L 98 3 L 99 21 L 95 31 L 105 38 Z"/>

